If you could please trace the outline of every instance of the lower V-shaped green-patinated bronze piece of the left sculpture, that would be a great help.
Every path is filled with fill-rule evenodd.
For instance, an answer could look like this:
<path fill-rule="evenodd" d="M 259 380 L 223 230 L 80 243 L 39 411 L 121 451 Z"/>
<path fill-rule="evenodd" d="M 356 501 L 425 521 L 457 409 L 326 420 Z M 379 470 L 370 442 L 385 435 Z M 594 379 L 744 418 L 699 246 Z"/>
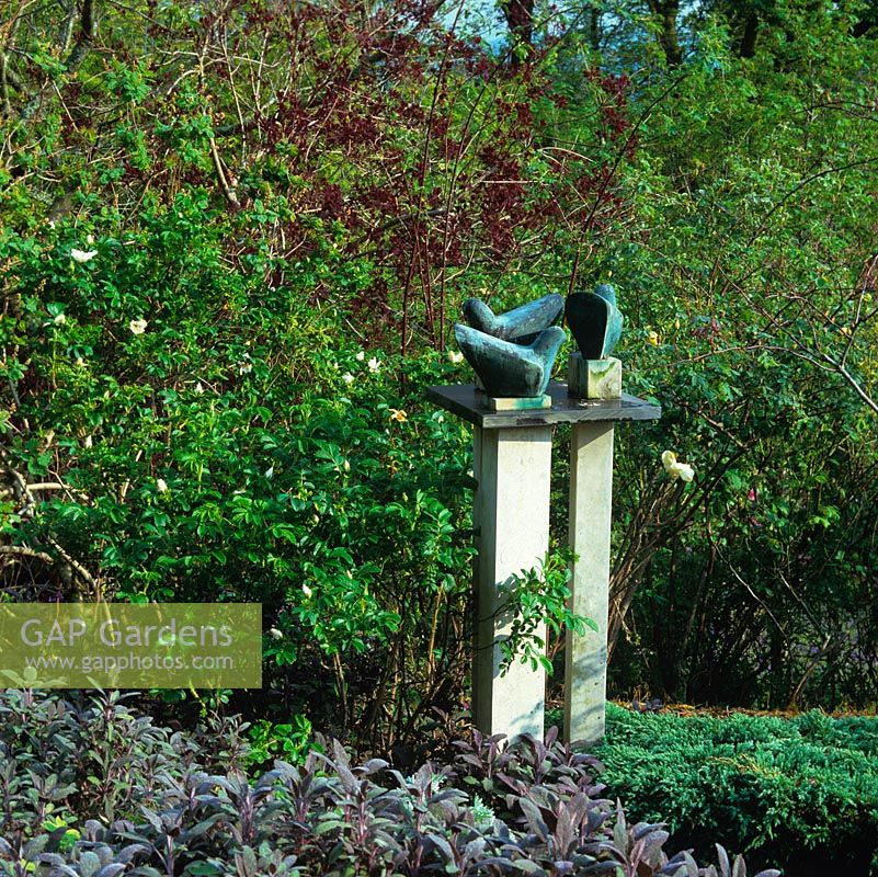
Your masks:
<path fill-rule="evenodd" d="M 531 344 L 514 344 L 461 323 L 454 334 L 484 391 L 500 398 L 541 397 L 565 341 L 560 326 L 544 329 Z"/>

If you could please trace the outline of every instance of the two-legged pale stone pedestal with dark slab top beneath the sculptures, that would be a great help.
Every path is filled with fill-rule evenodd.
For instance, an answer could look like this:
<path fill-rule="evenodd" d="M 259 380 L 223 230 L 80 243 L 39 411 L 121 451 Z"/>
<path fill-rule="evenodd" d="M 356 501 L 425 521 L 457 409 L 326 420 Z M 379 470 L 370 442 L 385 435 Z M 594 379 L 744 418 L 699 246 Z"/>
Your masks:
<path fill-rule="evenodd" d="M 569 538 L 579 560 L 572 569 L 571 604 L 598 630 L 568 635 L 565 736 L 592 743 L 604 731 L 614 425 L 657 420 L 661 409 L 626 394 L 577 399 L 557 381 L 549 383 L 547 394 L 550 408 L 494 411 L 472 384 L 426 390 L 431 401 L 475 426 L 479 556 L 472 713 L 484 733 L 543 737 L 544 671 L 516 662 L 500 675 L 498 639 L 511 618 L 502 611 L 498 588 L 511 574 L 534 568 L 548 549 L 552 428 L 572 425 Z"/>

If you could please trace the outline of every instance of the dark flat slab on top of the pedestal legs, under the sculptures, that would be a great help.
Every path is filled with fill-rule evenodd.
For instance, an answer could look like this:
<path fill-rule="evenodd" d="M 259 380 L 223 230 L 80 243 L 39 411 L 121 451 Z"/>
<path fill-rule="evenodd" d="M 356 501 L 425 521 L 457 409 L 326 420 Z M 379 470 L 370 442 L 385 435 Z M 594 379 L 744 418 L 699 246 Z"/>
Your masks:
<path fill-rule="evenodd" d="M 546 392 L 551 408 L 533 411 L 491 411 L 488 396 L 475 384 L 452 384 L 427 387 L 426 398 L 453 414 L 483 430 L 520 426 L 554 426 L 556 423 L 585 423 L 616 420 L 659 420 L 661 406 L 652 405 L 627 392 L 622 399 L 575 399 L 567 395 L 567 384 L 549 381 Z"/>

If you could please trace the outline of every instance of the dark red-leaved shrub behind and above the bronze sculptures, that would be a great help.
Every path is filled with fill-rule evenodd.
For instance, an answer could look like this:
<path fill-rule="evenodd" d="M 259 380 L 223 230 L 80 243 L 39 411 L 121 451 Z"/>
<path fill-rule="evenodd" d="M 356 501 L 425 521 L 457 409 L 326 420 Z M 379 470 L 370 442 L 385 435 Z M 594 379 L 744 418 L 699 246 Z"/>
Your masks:
<path fill-rule="evenodd" d="M 533 47 L 513 69 L 481 39 L 449 32 L 438 8 L 230 0 L 171 26 L 148 0 L 152 39 L 185 37 L 204 75 L 184 79 L 179 60 L 148 66 L 146 159 L 135 166 L 121 150 L 121 183 L 169 201 L 181 186 L 204 187 L 229 210 L 258 201 L 271 210 L 280 200 L 277 221 L 242 223 L 238 257 L 270 252 L 286 265 L 272 270 L 282 283 L 331 235 L 337 252 L 369 263 L 370 281 L 346 292 L 346 304 L 377 327 L 398 327 L 403 351 L 413 331 L 442 346 L 449 278 L 471 266 L 502 276 L 537 264 L 549 247 L 567 248 L 572 262 L 583 237 L 624 205 L 617 162 L 547 148 L 543 109 L 554 104 L 557 119 L 575 103 L 555 93 L 541 67 L 547 48 Z M 258 98 L 248 91 L 256 76 Z M 630 155 L 627 78 L 586 78 L 597 95 L 590 136 Z M 64 143 L 87 147 L 88 89 L 72 80 L 64 99 Z"/>

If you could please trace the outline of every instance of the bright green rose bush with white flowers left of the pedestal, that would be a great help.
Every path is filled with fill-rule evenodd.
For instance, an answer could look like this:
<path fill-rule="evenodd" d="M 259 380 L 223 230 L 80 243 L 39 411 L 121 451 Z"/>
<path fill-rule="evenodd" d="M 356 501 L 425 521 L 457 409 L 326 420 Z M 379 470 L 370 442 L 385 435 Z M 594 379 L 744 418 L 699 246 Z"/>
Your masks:
<path fill-rule="evenodd" d="M 445 612 L 467 600 L 467 440 L 414 389 L 454 366 L 330 344 L 304 289 L 266 288 L 258 263 L 227 271 L 206 206 L 146 209 L 137 240 L 0 232 L 22 283 L 21 312 L 0 320 L 16 387 L 2 532 L 49 550 L 9 568 L 10 583 L 20 597 L 260 601 L 281 634 L 269 675 L 323 668 L 303 703 L 330 713 L 318 692 L 335 687 L 350 721 L 377 706 L 357 703 L 341 657 L 368 651 L 364 672 L 392 676 L 380 650 L 432 637 L 424 693 L 458 661 Z M 71 260 L 75 243 L 96 255 Z"/>

